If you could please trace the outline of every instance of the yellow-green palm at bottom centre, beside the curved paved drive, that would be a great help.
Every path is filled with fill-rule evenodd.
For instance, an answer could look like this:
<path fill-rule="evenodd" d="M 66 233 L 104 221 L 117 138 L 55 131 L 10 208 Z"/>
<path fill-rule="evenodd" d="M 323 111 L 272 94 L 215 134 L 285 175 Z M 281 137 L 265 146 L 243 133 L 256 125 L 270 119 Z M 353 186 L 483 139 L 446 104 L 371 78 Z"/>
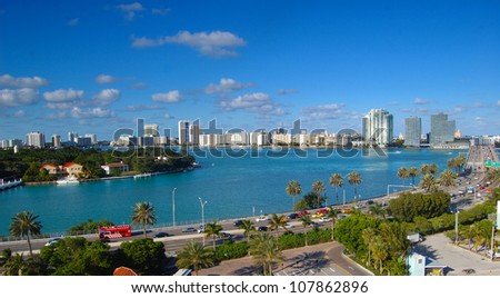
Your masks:
<path fill-rule="evenodd" d="M 284 260 L 278 239 L 267 232 L 252 237 L 249 244 L 249 251 L 257 265 L 262 266 L 264 275 L 272 275 L 273 264 Z"/>

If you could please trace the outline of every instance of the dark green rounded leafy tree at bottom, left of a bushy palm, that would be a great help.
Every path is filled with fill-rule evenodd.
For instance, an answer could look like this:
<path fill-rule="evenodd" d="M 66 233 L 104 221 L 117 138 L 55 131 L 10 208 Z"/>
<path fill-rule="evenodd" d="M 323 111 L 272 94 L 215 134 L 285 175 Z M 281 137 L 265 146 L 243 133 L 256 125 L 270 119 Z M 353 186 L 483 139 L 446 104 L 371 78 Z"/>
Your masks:
<path fill-rule="evenodd" d="M 162 272 L 167 261 L 163 242 L 154 242 L 150 238 L 137 239 L 120 245 L 123 262 L 140 275 L 158 275 Z"/>

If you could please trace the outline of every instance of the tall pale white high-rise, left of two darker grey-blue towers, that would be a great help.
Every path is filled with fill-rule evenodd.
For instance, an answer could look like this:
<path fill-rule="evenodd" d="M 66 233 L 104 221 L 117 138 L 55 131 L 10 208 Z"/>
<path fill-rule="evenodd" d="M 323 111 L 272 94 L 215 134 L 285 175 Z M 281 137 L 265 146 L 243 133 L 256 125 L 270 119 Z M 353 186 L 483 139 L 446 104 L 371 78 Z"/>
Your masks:
<path fill-rule="evenodd" d="M 392 113 L 384 109 L 373 109 L 362 121 L 362 136 L 367 143 L 388 146 L 394 135 Z"/>

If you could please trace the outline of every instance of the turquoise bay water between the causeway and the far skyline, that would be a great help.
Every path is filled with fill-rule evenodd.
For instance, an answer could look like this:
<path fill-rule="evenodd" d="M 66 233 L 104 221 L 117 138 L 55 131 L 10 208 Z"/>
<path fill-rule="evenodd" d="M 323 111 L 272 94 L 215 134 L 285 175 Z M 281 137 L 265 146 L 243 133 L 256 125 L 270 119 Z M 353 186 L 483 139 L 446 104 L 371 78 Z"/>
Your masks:
<path fill-rule="evenodd" d="M 318 158 L 318 150 L 307 150 L 307 158 L 288 152 L 271 158 L 271 149 L 259 149 L 240 158 L 208 155 L 197 158 L 202 166 L 188 172 L 154 176 L 146 179 L 98 181 L 76 186 L 30 186 L 0 192 L 0 235 L 9 234 L 13 215 L 29 210 L 39 215 L 43 232 L 66 231 L 87 219 L 109 219 L 128 224 L 132 206 L 150 201 L 156 206 L 159 224 L 172 222 L 172 190 L 176 191 L 177 225 L 201 221 L 199 197 L 208 201 L 206 220 L 282 212 L 292 208 L 292 198 L 284 188 L 289 180 L 298 180 L 308 192 L 313 181 L 321 179 L 327 186 L 329 203 L 334 202 L 334 189 L 328 185 L 333 172 L 347 176 L 357 170 L 362 183 L 358 187 L 361 199 L 384 195 L 388 185 L 400 185 L 400 167 L 420 167 L 434 162 L 440 170 L 448 159 L 466 151 L 389 149 L 387 155 L 374 151 L 350 151 L 350 158 L 338 151 Z M 278 152 L 280 153 L 280 152 Z M 344 155 L 344 153 L 342 153 Z M 408 179 L 408 185 L 411 179 Z M 418 181 L 417 181 L 418 182 Z M 347 201 L 353 189 L 346 180 Z"/>

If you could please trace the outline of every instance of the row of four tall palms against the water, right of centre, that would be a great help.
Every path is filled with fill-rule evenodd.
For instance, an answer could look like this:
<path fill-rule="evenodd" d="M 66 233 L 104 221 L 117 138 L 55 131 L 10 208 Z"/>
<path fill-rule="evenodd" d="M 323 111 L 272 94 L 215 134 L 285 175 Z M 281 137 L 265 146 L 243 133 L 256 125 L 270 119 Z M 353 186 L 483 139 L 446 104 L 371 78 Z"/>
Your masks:
<path fill-rule="evenodd" d="M 354 200 L 358 199 L 358 186 L 361 185 L 362 179 L 361 175 L 358 171 L 352 171 L 348 175 L 348 181 L 354 189 Z M 336 188 L 336 201 L 339 203 L 339 188 L 344 186 L 344 180 L 342 175 L 336 172 L 330 176 L 329 183 L 331 187 Z M 284 189 L 288 196 L 291 196 L 293 198 L 293 208 L 296 207 L 296 197 L 300 196 L 302 193 L 302 187 L 297 180 L 291 180 L 287 183 L 287 187 Z M 322 180 L 317 180 L 312 183 L 312 192 L 317 195 L 318 197 L 318 207 L 320 206 L 321 196 L 327 191 L 327 188 L 324 187 L 324 183 Z"/>

